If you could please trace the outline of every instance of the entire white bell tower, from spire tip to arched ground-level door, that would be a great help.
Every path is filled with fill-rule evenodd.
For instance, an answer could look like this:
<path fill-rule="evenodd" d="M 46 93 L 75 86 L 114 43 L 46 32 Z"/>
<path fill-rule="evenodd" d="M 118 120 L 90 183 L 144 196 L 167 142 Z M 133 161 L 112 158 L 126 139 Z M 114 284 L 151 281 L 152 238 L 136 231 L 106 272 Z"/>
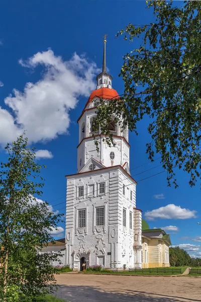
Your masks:
<path fill-rule="evenodd" d="M 77 173 L 66 175 L 66 265 L 78 271 L 83 264 L 114 270 L 142 265 L 141 212 L 136 209 L 137 183 L 129 172 L 128 128 L 122 131 L 112 115 L 108 128 L 115 145 L 109 146 L 92 122 L 100 98 L 119 98 L 112 79 L 106 71 L 105 36 L 103 70 L 77 121 Z"/>

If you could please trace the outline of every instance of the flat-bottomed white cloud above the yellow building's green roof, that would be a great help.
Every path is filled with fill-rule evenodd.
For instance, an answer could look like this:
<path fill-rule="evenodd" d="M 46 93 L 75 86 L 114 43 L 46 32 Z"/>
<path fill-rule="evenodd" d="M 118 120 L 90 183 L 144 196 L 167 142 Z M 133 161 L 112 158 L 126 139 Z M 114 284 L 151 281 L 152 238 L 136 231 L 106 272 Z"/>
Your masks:
<path fill-rule="evenodd" d="M 168 204 L 166 206 L 161 206 L 158 209 L 145 212 L 145 218 L 147 220 L 154 220 L 155 218 L 160 219 L 188 219 L 195 218 L 195 210 L 189 210 L 181 208 L 175 204 Z"/>

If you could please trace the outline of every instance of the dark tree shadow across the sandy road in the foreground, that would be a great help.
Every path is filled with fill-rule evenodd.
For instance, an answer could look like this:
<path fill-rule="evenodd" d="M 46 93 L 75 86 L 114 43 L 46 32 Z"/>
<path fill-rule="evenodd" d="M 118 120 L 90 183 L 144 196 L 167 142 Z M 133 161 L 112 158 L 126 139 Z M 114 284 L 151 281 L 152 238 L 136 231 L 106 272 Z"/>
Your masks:
<path fill-rule="evenodd" d="M 60 285 L 56 294 L 69 302 L 199 302 L 200 299 L 167 296 L 154 292 L 135 290 L 106 291 L 94 286 L 67 286 Z"/>

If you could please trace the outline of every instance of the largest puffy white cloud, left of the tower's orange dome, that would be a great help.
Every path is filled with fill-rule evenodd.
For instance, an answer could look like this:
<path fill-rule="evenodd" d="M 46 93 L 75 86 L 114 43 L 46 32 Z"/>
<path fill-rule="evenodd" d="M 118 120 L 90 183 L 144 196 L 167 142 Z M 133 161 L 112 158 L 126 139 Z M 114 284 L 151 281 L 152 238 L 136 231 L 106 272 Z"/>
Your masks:
<path fill-rule="evenodd" d="M 26 83 L 22 92 L 14 89 L 5 99 L 9 109 L 0 107 L 0 144 L 13 141 L 24 130 L 30 143 L 67 133 L 69 111 L 95 89 L 93 78 L 99 71 L 95 63 L 76 53 L 63 61 L 51 49 L 19 63 L 32 69 L 42 65 L 43 76 L 36 83 Z"/>

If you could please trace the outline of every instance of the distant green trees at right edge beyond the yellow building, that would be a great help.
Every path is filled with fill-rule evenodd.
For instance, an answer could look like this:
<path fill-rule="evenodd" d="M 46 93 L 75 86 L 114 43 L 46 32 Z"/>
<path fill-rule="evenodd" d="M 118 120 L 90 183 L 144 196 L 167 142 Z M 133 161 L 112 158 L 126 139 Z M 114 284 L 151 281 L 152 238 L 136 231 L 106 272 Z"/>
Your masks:
<path fill-rule="evenodd" d="M 189 265 L 192 267 L 201 266 L 200 258 L 191 258 L 190 255 L 179 247 L 169 248 L 170 266 Z"/>

